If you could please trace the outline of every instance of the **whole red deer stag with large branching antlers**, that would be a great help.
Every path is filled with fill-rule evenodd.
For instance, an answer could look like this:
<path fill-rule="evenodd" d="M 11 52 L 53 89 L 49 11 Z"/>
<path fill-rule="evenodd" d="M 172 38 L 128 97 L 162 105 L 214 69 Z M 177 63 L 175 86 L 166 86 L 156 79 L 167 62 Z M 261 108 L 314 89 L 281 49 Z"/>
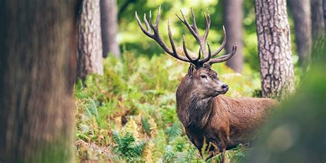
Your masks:
<path fill-rule="evenodd" d="M 201 153 L 204 141 L 206 141 L 206 144 L 212 144 L 207 149 L 210 153 L 209 157 L 223 153 L 222 158 L 224 159 L 224 151 L 252 140 L 254 136 L 252 133 L 259 127 L 270 108 L 277 102 L 268 98 L 234 99 L 221 95 L 226 94 L 228 85 L 219 79 L 217 73 L 210 66 L 213 63 L 221 63 L 231 58 L 237 50 L 237 45 L 232 47 L 230 54 L 213 58 L 221 52 L 226 44 L 225 29 L 223 28 L 224 41 L 221 47 L 212 53 L 210 52 L 210 45 L 207 43 L 207 52 L 206 39 L 210 28 L 208 11 L 207 15 L 204 12 L 206 30 L 203 36 L 199 36 L 193 10 L 191 10 L 193 24 L 188 23 L 182 11 L 181 14 L 182 17 L 178 15 L 177 17 L 186 25 L 199 43 L 200 49 L 197 58 L 192 58 L 187 52 L 184 36 L 183 50 L 185 56 L 177 54 L 172 39 L 170 21 L 168 21 L 168 31 L 172 50 L 164 43 L 158 31 L 160 9 L 155 24 L 151 21 L 151 12 L 149 12 L 149 21 L 146 20 L 146 14 L 144 15 L 146 30 L 142 26 L 137 12 L 135 12 L 135 17 L 144 34 L 155 40 L 171 56 L 190 63 L 188 74 L 184 76 L 177 87 L 177 116 L 184 125 L 186 135 L 195 144 L 199 153 Z M 204 54 L 203 58 L 201 58 L 201 53 Z"/>

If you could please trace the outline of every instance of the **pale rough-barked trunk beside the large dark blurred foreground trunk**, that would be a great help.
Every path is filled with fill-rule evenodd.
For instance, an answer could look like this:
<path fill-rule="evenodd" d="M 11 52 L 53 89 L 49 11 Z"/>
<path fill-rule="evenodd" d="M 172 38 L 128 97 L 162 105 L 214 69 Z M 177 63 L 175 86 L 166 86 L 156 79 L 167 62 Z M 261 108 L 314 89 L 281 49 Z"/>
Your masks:
<path fill-rule="evenodd" d="M 100 0 L 83 0 L 78 18 L 77 77 L 103 74 Z"/>

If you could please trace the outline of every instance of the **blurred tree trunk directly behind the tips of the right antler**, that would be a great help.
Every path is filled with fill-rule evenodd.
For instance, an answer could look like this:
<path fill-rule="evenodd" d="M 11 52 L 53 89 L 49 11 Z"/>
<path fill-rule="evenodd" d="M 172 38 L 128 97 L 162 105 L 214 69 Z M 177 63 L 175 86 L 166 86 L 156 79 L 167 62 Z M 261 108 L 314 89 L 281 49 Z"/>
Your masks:
<path fill-rule="evenodd" d="M 235 72 L 241 73 L 243 67 L 243 0 L 230 1 L 224 0 L 224 24 L 226 28 L 226 52 L 231 52 L 232 46 L 237 42 L 237 53 L 232 56 L 226 65 L 235 70 Z"/>

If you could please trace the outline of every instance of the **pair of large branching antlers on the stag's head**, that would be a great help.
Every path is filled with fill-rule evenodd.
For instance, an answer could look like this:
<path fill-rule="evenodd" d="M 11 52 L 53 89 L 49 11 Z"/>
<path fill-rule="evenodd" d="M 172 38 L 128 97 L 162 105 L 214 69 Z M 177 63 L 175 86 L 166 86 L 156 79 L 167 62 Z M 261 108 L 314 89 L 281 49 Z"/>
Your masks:
<path fill-rule="evenodd" d="M 163 48 L 163 50 L 165 50 L 165 52 L 167 52 L 171 56 L 173 56 L 181 61 L 193 63 L 196 67 L 202 67 L 202 65 L 204 65 L 204 63 L 206 63 L 206 62 L 208 62 L 210 65 L 212 65 L 213 63 L 221 63 L 221 62 L 227 61 L 237 51 L 237 43 L 235 43 L 235 45 L 232 47 L 232 52 L 230 54 L 226 54 L 224 56 L 219 56 L 217 58 L 213 58 L 214 56 L 219 54 L 219 52 L 221 52 L 221 50 L 223 50 L 224 46 L 226 45 L 226 30 L 223 26 L 224 39 L 223 39 L 223 42 L 221 43 L 221 46 L 219 47 L 219 49 L 215 50 L 215 52 L 213 52 L 213 54 L 211 54 L 210 45 L 209 45 L 209 43 L 207 43 L 208 52 L 206 52 L 205 44 L 206 44 L 206 40 L 207 40 L 209 28 L 210 28 L 210 14 L 208 12 L 208 9 L 207 9 L 207 15 L 206 15 L 206 12 L 204 11 L 204 17 L 205 17 L 205 21 L 206 21 L 206 29 L 205 29 L 204 35 L 199 36 L 199 31 L 198 31 L 198 28 L 196 25 L 195 14 L 193 14 L 193 9 L 191 8 L 191 17 L 193 18 L 193 24 L 188 23 L 182 10 L 180 10 L 180 12 L 182 14 L 183 19 L 179 15 L 177 15 L 177 14 L 176 15 L 180 19 L 180 21 L 182 21 L 182 23 L 184 23 L 184 25 L 186 25 L 188 30 L 191 32 L 191 34 L 193 34 L 194 38 L 199 43 L 199 47 L 200 47 L 199 54 L 198 54 L 198 57 L 195 59 L 193 59 L 191 56 L 189 56 L 188 51 L 186 49 L 186 41 L 184 39 L 184 35 L 182 35 L 182 43 L 183 43 L 184 54 L 186 57 L 177 54 L 177 51 L 175 50 L 175 44 L 174 44 L 172 34 L 171 34 L 170 19 L 168 21 L 168 32 L 169 32 L 169 40 L 171 43 L 172 50 L 170 50 L 170 48 L 166 45 L 166 43 L 164 43 L 164 41 L 162 40 L 162 38 L 158 32 L 158 24 L 160 22 L 160 12 L 161 12 L 161 6 L 158 10 L 155 24 L 153 24 L 151 21 L 151 11 L 149 12 L 149 21 L 147 21 L 146 14 L 144 14 L 144 23 L 146 26 L 146 30 L 142 26 L 142 22 L 138 18 L 137 12 L 135 12 L 135 17 L 138 21 L 138 25 L 140 26 L 140 29 L 142 30 L 142 32 L 144 32 L 144 34 L 149 36 L 151 39 L 155 40 Z M 152 30 L 153 30 L 153 33 L 152 33 Z M 202 58 L 202 59 L 200 59 L 201 51 L 204 54 L 204 58 Z"/>

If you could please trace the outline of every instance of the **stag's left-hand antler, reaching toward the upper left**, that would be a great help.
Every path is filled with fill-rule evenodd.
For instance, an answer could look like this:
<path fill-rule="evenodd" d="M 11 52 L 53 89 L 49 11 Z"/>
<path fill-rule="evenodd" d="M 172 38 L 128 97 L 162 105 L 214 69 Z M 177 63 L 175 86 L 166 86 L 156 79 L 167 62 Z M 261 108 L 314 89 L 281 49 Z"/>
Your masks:
<path fill-rule="evenodd" d="M 140 19 L 138 17 L 137 11 L 135 12 L 135 18 L 137 19 L 140 30 L 142 30 L 142 32 L 144 32 L 144 34 L 146 34 L 146 36 L 149 36 L 151 39 L 156 41 L 162 47 L 162 49 L 165 52 L 167 52 L 168 54 L 170 54 L 171 56 L 173 56 L 181 61 L 191 62 L 188 60 L 188 58 L 177 54 L 177 52 L 175 50 L 175 45 L 173 43 L 172 35 L 171 35 L 170 21 L 168 22 L 168 30 L 169 30 L 169 39 L 170 39 L 171 45 L 172 45 L 172 51 L 166 45 L 166 43 L 164 43 L 164 41 L 162 40 L 160 33 L 158 32 L 158 25 L 160 23 L 160 8 L 157 13 L 155 25 L 153 24 L 151 17 L 152 17 L 151 11 L 149 12 L 149 21 L 147 21 L 146 15 L 144 15 L 144 22 L 145 22 L 146 28 L 148 28 L 147 30 L 145 30 L 144 26 L 142 25 L 142 22 L 140 21 Z M 153 30 L 153 33 L 151 32 L 151 29 Z"/>

